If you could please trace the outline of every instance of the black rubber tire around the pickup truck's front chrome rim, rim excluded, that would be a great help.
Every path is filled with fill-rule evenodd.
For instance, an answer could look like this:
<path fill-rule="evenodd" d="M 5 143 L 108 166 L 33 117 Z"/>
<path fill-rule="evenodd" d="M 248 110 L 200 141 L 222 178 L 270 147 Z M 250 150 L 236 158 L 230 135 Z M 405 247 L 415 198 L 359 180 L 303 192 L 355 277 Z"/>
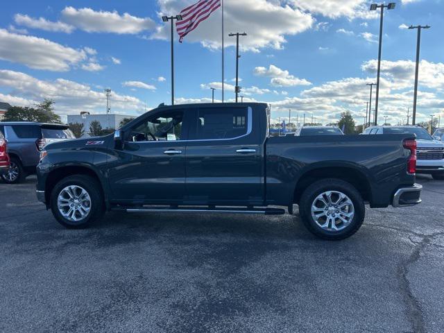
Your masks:
<path fill-rule="evenodd" d="M 85 189 L 90 198 L 89 213 L 87 213 L 87 216 L 84 219 L 76 222 L 67 219 L 58 209 L 58 196 L 65 187 L 70 185 Z M 51 191 L 50 206 L 57 221 L 65 228 L 69 229 L 87 228 L 92 225 L 92 223 L 99 221 L 103 214 L 105 214 L 101 185 L 96 179 L 86 175 L 68 176 L 67 178 L 60 180 Z"/>

